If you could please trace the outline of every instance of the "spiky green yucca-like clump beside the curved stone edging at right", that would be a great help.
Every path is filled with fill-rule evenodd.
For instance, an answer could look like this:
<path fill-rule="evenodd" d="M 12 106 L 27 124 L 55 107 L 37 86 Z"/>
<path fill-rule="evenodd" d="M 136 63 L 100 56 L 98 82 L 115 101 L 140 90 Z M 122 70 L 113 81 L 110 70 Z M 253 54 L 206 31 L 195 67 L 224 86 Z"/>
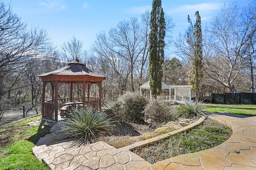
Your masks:
<path fill-rule="evenodd" d="M 174 116 L 177 118 L 198 119 L 204 116 L 204 111 L 205 107 L 201 101 L 195 100 L 192 105 L 186 101 L 185 104 L 180 104 L 176 107 Z"/>

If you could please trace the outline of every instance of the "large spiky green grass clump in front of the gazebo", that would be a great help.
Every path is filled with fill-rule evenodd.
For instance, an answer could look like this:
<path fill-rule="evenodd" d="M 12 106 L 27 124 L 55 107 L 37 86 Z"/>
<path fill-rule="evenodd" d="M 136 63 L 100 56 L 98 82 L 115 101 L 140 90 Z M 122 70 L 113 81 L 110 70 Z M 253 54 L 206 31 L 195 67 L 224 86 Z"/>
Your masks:
<path fill-rule="evenodd" d="M 89 144 L 100 133 L 111 133 L 116 119 L 97 109 L 72 109 L 70 119 L 63 121 L 59 132 L 68 138 L 80 137 L 76 144 Z"/>

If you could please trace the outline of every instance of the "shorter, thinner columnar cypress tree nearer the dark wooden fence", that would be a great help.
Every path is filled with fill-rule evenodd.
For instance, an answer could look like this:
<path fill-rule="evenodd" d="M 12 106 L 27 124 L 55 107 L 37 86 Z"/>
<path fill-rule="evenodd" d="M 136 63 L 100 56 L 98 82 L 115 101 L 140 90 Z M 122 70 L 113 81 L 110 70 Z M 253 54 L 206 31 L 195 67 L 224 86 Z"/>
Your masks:
<path fill-rule="evenodd" d="M 196 23 L 194 24 L 194 56 L 192 57 L 192 67 L 190 70 L 191 79 L 190 84 L 192 85 L 192 89 L 196 91 L 196 97 L 200 97 L 200 84 L 202 82 L 203 74 L 203 53 L 202 53 L 202 29 L 201 29 L 201 17 L 199 16 L 199 12 L 196 11 Z M 191 22 L 188 17 L 188 22 Z"/>

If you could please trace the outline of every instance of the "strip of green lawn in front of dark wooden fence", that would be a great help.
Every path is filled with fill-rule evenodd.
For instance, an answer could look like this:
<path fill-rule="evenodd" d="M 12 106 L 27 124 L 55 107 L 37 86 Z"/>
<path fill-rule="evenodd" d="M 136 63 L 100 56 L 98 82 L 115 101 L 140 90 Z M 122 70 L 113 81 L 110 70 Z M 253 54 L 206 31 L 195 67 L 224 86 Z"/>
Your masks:
<path fill-rule="evenodd" d="M 222 104 L 205 104 L 208 112 L 228 112 L 238 115 L 256 116 L 256 105 L 222 105 Z"/>

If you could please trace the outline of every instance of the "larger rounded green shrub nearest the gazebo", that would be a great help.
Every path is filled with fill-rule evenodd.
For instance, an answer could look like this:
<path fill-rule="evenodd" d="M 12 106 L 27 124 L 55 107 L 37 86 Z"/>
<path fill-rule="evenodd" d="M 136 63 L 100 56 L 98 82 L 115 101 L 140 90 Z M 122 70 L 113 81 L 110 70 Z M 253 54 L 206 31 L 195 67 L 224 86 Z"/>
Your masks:
<path fill-rule="evenodd" d="M 112 113 L 125 121 L 143 122 L 144 107 L 148 100 L 137 93 L 126 93 L 117 99 L 116 105 L 112 107 Z"/>

